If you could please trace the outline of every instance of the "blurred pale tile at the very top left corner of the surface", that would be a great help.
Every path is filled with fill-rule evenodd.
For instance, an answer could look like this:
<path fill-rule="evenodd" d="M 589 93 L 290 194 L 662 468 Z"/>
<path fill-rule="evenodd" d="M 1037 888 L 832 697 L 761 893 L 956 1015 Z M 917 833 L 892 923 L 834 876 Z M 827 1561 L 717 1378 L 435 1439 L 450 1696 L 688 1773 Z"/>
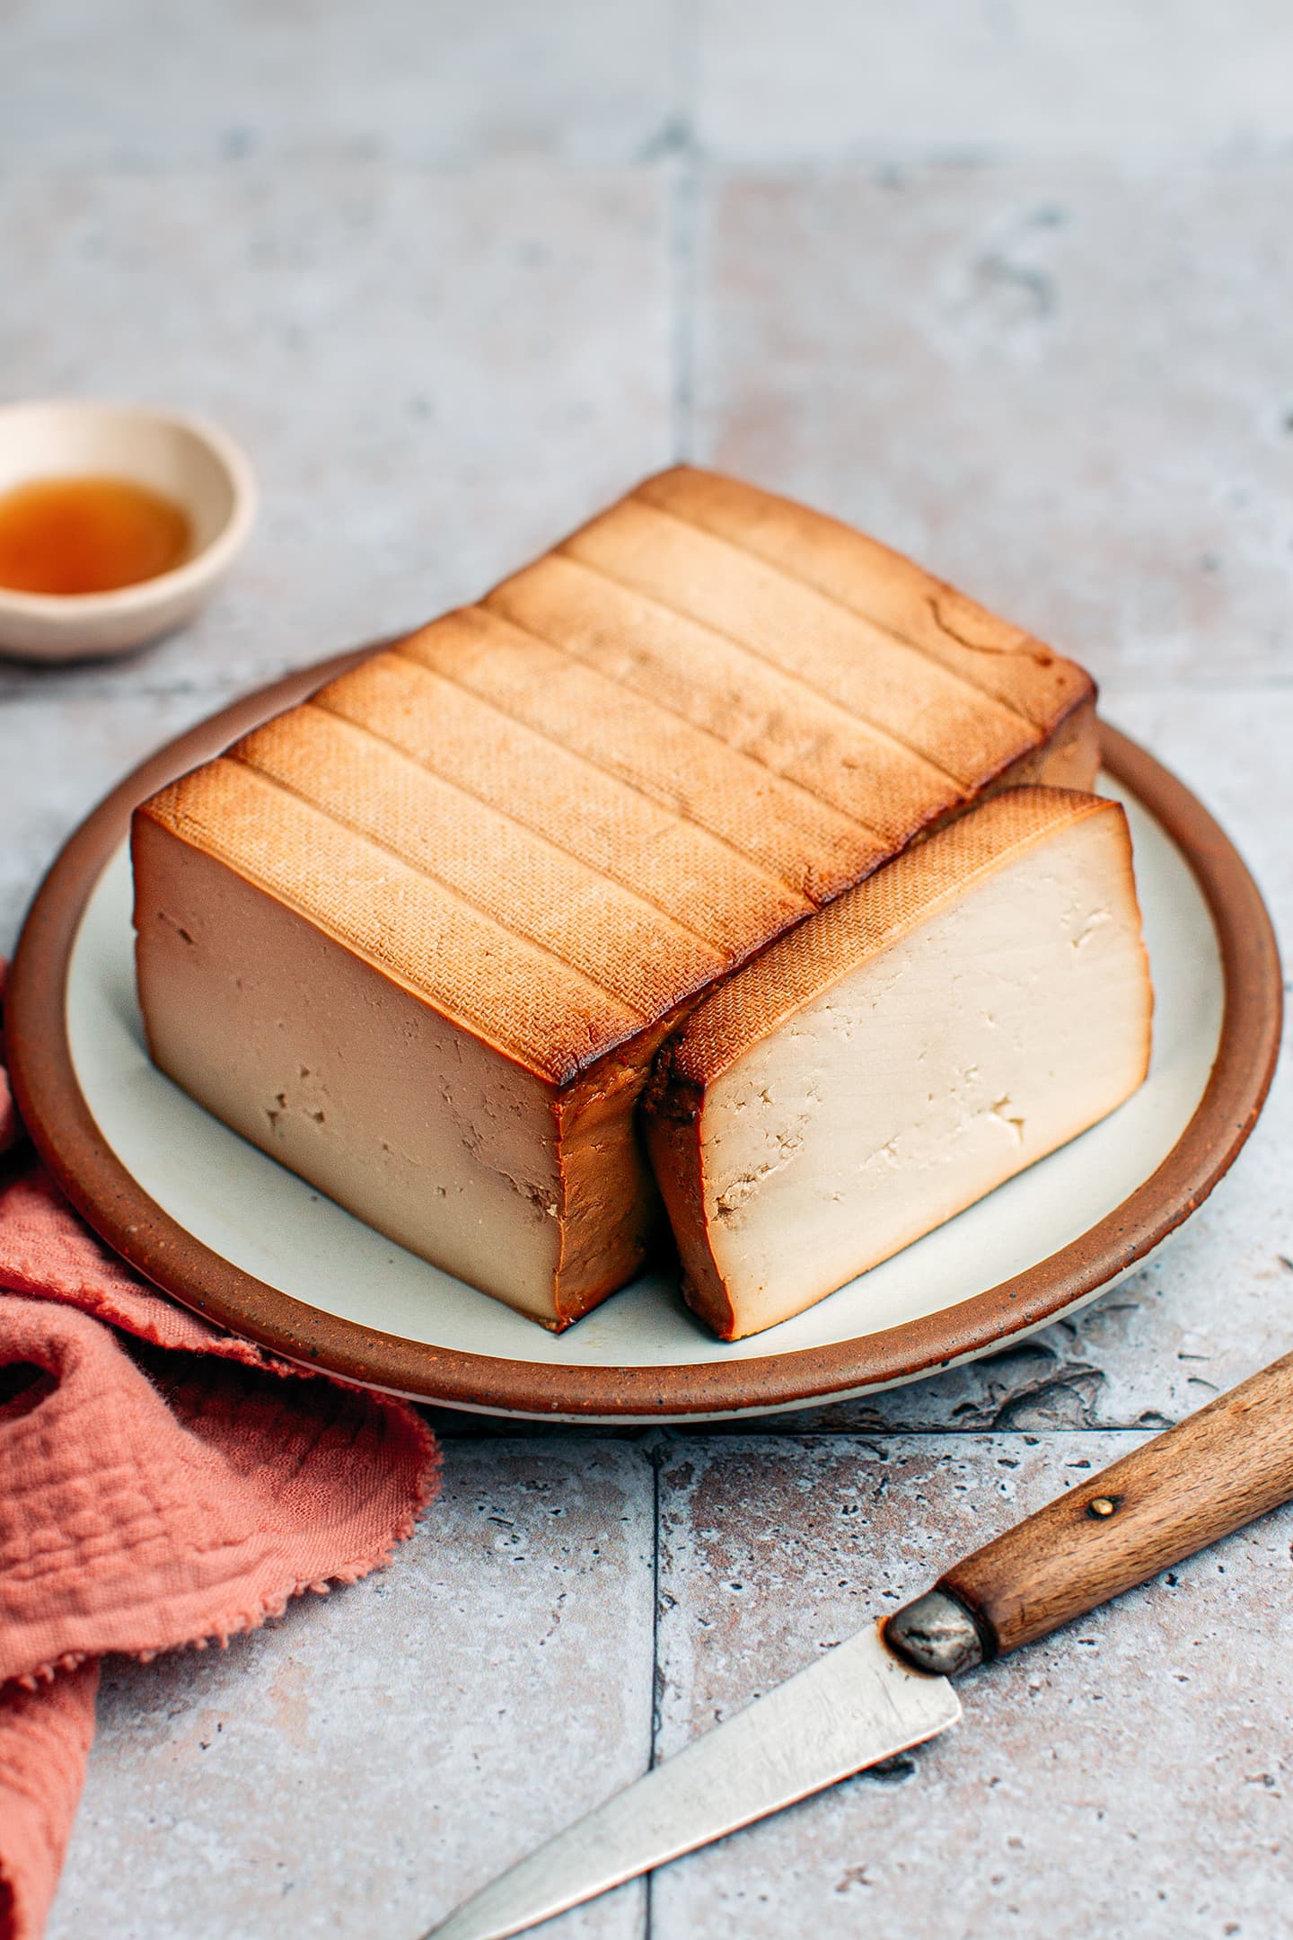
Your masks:
<path fill-rule="evenodd" d="M 671 27 L 653 0 L 10 0 L 0 163 L 632 161 L 667 140 Z"/>

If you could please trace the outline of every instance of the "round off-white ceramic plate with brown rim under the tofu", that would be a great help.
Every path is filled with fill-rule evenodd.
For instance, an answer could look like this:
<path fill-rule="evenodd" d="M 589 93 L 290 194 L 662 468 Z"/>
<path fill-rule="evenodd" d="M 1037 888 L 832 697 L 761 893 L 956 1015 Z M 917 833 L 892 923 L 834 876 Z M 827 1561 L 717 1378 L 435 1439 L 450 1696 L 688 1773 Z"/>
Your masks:
<path fill-rule="evenodd" d="M 762 1414 L 919 1379 L 1093 1298 L 1198 1207 L 1245 1143 L 1279 1040 L 1260 894 L 1200 803 L 1105 733 L 1153 964 L 1148 1083 L 1113 1117 L 808 1313 L 713 1341 L 671 1273 L 564 1335 L 415 1259 L 246 1145 L 147 1061 L 134 997 L 130 809 L 357 656 L 163 749 L 78 830 L 10 982 L 19 1104 L 87 1220 L 184 1304 L 277 1354 L 421 1401 L 580 1420 Z"/>

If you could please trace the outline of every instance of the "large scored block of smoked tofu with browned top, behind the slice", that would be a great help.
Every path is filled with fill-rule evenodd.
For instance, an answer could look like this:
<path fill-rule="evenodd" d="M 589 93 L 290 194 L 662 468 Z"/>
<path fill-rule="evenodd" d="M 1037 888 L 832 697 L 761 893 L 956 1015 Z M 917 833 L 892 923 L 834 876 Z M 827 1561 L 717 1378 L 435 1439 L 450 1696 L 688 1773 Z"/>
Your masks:
<path fill-rule="evenodd" d="M 1068 660 L 816 512 L 649 479 L 136 813 L 155 1061 L 549 1327 L 632 1278 L 663 1034 L 967 801 L 1089 786 Z"/>

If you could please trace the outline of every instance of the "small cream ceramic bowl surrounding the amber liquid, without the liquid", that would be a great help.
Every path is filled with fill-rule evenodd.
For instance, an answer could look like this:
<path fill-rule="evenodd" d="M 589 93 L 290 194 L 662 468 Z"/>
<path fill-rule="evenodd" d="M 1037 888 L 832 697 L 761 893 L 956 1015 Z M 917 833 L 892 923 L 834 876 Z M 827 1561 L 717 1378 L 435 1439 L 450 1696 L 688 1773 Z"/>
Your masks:
<path fill-rule="evenodd" d="M 190 619 L 242 551 L 256 481 L 238 446 L 198 417 L 66 398 L 0 405 L 0 493 L 39 477 L 112 475 L 188 514 L 182 565 L 107 594 L 0 586 L 0 652 L 23 660 L 124 654 Z"/>

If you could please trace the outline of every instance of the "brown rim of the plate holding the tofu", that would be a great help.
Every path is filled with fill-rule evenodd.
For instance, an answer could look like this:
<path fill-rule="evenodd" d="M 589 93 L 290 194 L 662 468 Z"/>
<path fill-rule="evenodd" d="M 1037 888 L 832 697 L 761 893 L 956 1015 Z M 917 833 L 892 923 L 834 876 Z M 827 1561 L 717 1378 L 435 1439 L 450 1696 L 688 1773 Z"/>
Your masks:
<path fill-rule="evenodd" d="M 405 1341 L 322 1313 L 221 1259 L 155 1205 L 107 1147 L 81 1096 L 66 1024 L 72 947 L 130 811 L 165 782 L 372 648 L 339 654 L 237 700 L 142 762 L 81 823 L 37 890 L 6 991 L 17 1106 L 72 1205 L 184 1306 L 304 1368 L 417 1401 L 527 1416 L 715 1416 L 828 1401 L 934 1374 L 1043 1325 L 1134 1267 L 1208 1197 L 1252 1131 L 1279 1051 L 1279 953 L 1260 890 L 1202 803 L 1151 755 L 1101 726 L 1105 766 L 1184 854 L 1221 945 L 1225 1007 L 1212 1077 L 1163 1164 L 1070 1245 L 954 1308 L 828 1346 L 667 1368 L 578 1368 Z"/>

